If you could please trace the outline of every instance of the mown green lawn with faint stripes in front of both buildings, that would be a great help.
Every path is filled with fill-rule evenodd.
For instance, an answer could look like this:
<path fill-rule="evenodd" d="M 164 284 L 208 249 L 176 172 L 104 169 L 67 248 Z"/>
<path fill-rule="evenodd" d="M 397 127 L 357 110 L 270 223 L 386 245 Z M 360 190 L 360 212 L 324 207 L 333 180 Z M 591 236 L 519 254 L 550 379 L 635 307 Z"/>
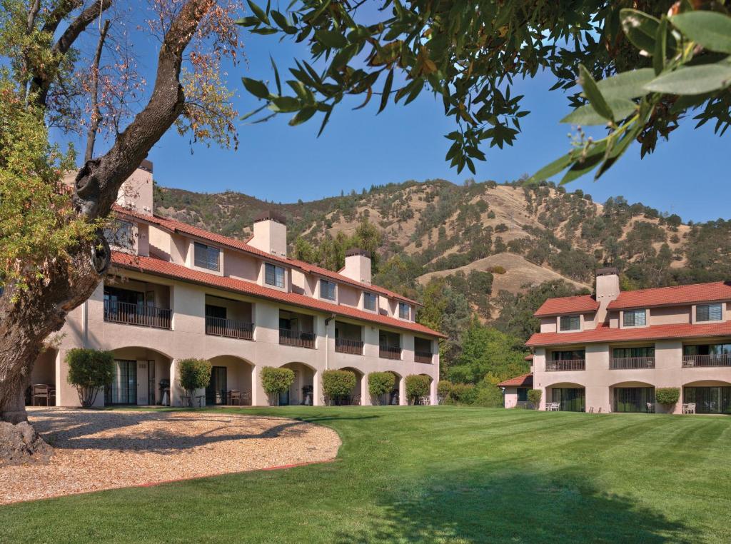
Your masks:
<path fill-rule="evenodd" d="M 729 542 L 731 418 L 248 409 L 338 460 L 0 508 L 3 542 Z"/>

